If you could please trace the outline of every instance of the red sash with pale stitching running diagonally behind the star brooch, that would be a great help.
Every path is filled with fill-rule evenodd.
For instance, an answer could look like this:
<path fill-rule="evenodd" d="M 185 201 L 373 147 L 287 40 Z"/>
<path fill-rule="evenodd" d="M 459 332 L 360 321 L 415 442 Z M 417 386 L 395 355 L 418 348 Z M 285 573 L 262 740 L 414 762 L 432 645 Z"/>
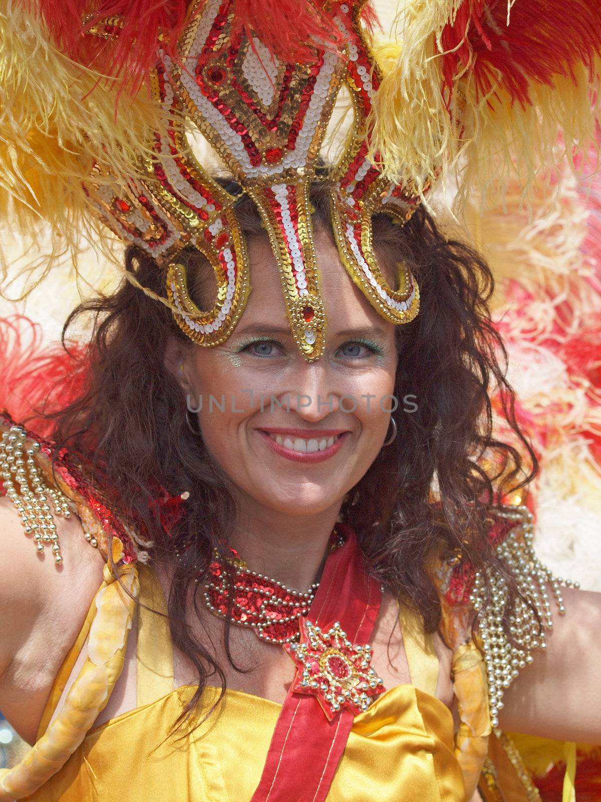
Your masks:
<path fill-rule="evenodd" d="M 380 610 L 380 585 L 365 570 L 353 529 L 337 529 L 347 536 L 345 544 L 329 555 L 307 618 L 322 630 L 340 622 L 353 644 L 364 644 Z M 315 696 L 291 687 L 251 802 L 323 802 L 354 717 L 343 707 L 329 721 Z"/>

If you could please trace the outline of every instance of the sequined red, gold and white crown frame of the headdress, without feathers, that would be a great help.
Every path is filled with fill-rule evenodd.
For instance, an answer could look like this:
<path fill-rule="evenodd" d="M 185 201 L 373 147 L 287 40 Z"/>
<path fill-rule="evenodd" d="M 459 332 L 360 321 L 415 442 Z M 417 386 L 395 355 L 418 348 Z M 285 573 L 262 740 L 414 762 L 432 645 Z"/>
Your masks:
<path fill-rule="evenodd" d="M 175 320 L 199 345 L 216 346 L 232 334 L 251 282 L 234 213 L 236 196 L 198 163 L 187 129 L 204 135 L 256 203 L 276 257 L 296 346 L 313 362 L 325 347 L 326 318 L 309 183 L 316 178 L 317 159 L 343 84 L 353 99 L 353 124 L 341 159 L 329 176 L 323 176 L 334 181 L 332 225 L 341 261 L 387 320 L 409 322 L 419 310 L 417 283 L 409 267 L 398 265 L 398 288 L 393 289 L 373 254 L 373 214 L 390 213 L 403 223 L 420 196 L 413 188 L 386 180 L 377 155 L 373 161 L 367 158 L 367 120 L 381 71 L 361 23 L 363 5 L 363 0 L 329 4 L 327 13 L 344 34 L 344 52 L 316 43 L 312 62 L 287 64 L 272 56 L 260 38 L 251 41 L 234 32 L 234 0 L 196 2 L 179 39 L 179 59 L 171 59 L 159 47 L 151 75 L 153 98 L 162 108 L 167 133 L 157 132 L 149 146 L 147 178 L 127 180 L 128 192 L 119 188 L 119 195 L 108 176 L 97 182 L 92 176 L 86 188 L 114 233 L 167 268 L 167 298 Z M 92 34 L 116 38 L 119 30 L 119 20 L 113 17 L 104 26 L 95 25 Z M 179 253 L 190 246 L 204 254 L 215 272 L 217 295 L 210 310 L 196 306 L 188 290 Z"/>

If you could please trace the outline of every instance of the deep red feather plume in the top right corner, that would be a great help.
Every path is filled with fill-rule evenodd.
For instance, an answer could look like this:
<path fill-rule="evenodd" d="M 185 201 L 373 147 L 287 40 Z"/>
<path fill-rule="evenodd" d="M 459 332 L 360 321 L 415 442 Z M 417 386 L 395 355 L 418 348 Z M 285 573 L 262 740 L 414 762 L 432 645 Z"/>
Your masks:
<path fill-rule="evenodd" d="M 446 90 L 452 92 L 467 69 L 479 97 L 498 87 L 525 107 L 532 83 L 553 86 L 557 75 L 575 79 L 578 63 L 592 77 L 601 53 L 601 3 L 515 0 L 509 19 L 507 25 L 507 0 L 463 0 L 442 31 Z"/>

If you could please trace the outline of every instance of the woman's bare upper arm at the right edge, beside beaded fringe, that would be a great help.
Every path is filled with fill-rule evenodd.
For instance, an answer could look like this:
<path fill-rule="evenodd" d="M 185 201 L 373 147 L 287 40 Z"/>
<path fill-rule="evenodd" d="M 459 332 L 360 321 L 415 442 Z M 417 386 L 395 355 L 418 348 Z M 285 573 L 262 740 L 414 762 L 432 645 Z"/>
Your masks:
<path fill-rule="evenodd" d="M 601 744 L 601 593 L 563 589 L 547 650 L 536 650 L 504 696 L 499 724 L 523 732 Z"/>

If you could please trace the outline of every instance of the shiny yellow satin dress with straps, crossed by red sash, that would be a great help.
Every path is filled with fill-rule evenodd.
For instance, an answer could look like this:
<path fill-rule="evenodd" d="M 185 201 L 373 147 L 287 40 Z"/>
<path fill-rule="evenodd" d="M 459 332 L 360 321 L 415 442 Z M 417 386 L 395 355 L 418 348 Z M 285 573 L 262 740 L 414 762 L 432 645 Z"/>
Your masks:
<path fill-rule="evenodd" d="M 154 571 L 139 566 L 140 601 L 164 610 Z M 94 605 L 55 678 L 38 738 L 46 730 L 79 652 Z M 454 755 L 454 723 L 435 698 L 438 658 L 430 636 L 403 614 L 405 653 L 413 684 L 385 691 L 357 715 L 329 802 L 463 802 L 464 782 Z M 194 693 L 174 687 L 166 619 L 143 607 L 138 626 L 137 706 L 87 732 L 67 763 L 30 802 L 248 802 L 267 756 L 280 705 L 241 691 L 225 697 L 196 731 L 167 738 L 169 725 Z M 407 626 L 408 622 L 411 626 Z M 216 701 L 208 687 L 203 705 Z M 184 725 L 185 726 L 185 725 Z M 179 733 L 180 735 L 181 733 Z M 310 735 L 309 735 L 310 737 Z M 294 802 L 294 800 L 290 800 Z"/>

